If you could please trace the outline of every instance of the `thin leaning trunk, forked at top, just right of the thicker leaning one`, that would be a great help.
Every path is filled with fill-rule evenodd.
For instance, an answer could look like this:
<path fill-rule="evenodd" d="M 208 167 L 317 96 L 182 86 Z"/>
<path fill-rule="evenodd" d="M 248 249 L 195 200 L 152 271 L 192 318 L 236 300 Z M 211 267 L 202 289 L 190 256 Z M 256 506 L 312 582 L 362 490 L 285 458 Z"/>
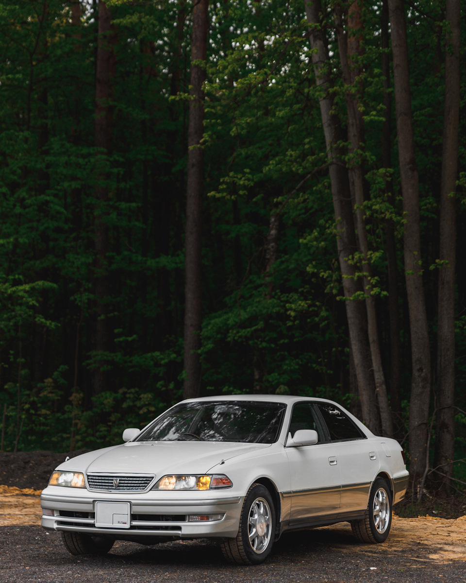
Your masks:
<path fill-rule="evenodd" d="M 358 80 L 357 59 L 352 59 L 361 54 L 361 34 L 362 27 L 361 8 L 358 2 L 353 2 L 348 15 L 348 32 L 345 33 L 343 9 L 338 3 L 334 12 L 338 50 L 340 51 L 341 71 L 345 84 L 345 101 L 348 112 L 348 140 L 350 141 L 350 154 L 352 163 L 348 164 L 348 178 L 350 180 L 351 198 L 355 203 L 356 232 L 358 234 L 358 248 L 362 255 L 362 283 L 365 294 L 365 306 L 368 319 L 368 338 L 370 347 L 370 357 L 372 360 L 372 370 L 375 380 L 377 402 L 379 403 L 380 420 L 382 422 L 382 434 L 393 437 L 393 423 L 389 400 L 387 398 L 387 387 L 385 375 L 383 373 L 382 355 L 380 353 L 379 332 L 377 330 L 377 314 L 375 297 L 372 295 L 372 267 L 369 261 L 369 244 L 366 230 L 366 220 L 364 216 L 364 180 L 361 161 L 356 161 L 358 150 L 363 142 L 363 125 L 361 114 L 358 110 L 358 91 L 356 82 Z"/>

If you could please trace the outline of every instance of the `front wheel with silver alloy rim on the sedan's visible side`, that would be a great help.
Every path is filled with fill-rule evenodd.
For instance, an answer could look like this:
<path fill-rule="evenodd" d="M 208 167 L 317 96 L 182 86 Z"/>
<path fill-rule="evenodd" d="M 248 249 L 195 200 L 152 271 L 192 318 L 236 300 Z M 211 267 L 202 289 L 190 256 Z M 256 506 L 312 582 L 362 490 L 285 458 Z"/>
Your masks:
<path fill-rule="evenodd" d="M 275 537 L 275 508 L 269 490 L 252 484 L 243 501 L 238 534 L 221 543 L 223 556 L 230 563 L 259 565 L 270 554 Z"/>

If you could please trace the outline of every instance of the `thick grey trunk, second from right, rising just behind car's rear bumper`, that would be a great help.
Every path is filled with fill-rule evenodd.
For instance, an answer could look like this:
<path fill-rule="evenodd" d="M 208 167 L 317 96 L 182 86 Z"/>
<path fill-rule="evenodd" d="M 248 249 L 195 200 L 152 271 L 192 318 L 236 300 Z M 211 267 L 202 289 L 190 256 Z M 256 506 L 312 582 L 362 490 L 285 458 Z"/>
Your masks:
<path fill-rule="evenodd" d="M 409 407 L 409 472 L 414 486 L 426 469 L 430 348 L 422 285 L 419 178 L 414 153 L 411 92 L 409 90 L 408 43 L 403 0 L 389 0 L 393 77 L 395 89 L 398 157 L 403 193 L 404 268 L 411 335 L 411 402 Z"/>

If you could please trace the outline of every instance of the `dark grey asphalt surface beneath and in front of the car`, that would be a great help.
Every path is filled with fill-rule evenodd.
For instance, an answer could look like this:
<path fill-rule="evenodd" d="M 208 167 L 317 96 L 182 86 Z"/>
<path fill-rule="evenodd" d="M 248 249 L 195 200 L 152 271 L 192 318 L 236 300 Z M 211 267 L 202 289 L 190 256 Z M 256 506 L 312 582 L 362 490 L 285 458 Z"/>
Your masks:
<path fill-rule="evenodd" d="M 260 566 L 225 564 L 220 548 L 208 540 L 143 547 L 117 542 L 104 557 L 70 555 L 59 533 L 40 526 L 0 527 L 0 581 L 27 583 L 230 583 L 466 581 L 465 560 L 432 559 L 432 545 L 407 547 L 390 538 L 364 545 L 348 525 L 284 535 Z"/>

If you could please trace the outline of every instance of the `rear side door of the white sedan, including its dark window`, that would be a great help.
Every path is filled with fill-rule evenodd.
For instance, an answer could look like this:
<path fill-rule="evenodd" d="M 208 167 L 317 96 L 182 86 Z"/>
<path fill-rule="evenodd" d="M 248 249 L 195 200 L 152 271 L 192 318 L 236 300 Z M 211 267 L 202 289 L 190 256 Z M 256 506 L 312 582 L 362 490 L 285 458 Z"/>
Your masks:
<path fill-rule="evenodd" d="M 368 504 L 370 485 L 380 467 L 375 444 L 332 403 L 317 403 L 316 406 L 332 443 L 338 448 L 341 472 L 339 516 L 363 511 Z"/>

